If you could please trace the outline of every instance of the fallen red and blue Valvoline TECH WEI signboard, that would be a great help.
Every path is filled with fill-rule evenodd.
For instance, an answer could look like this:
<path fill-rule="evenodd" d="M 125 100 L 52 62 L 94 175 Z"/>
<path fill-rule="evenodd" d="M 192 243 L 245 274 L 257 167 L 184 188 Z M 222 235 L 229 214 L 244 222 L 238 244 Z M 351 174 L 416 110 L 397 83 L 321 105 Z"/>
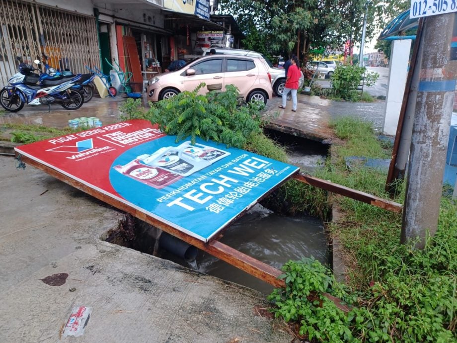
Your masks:
<path fill-rule="evenodd" d="M 129 120 L 15 150 L 208 242 L 299 168 Z"/>

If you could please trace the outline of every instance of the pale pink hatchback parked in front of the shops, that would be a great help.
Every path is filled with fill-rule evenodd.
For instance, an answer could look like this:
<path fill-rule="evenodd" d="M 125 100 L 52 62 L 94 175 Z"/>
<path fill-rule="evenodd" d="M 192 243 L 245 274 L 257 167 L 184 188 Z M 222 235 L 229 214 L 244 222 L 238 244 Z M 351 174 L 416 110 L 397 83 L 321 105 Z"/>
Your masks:
<path fill-rule="evenodd" d="M 271 75 L 263 58 L 247 56 L 202 56 L 187 63 L 179 70 L 158 74 L 148 82 L 148 100 L 170 98 L 184 90 L 192 91 L 202 82 L 208 89 L 234 85 L 246 101 L 259 100 L 267 103 L 273 95 Z"/>

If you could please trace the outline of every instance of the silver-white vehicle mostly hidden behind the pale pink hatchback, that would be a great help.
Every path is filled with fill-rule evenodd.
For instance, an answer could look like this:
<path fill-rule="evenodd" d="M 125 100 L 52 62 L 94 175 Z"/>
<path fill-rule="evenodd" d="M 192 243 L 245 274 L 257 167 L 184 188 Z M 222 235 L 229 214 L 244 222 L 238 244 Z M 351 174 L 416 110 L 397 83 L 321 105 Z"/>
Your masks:
<path fill-rule="evenodd" d="M 283 68 L 275 68 L 273 67 L 273 63 L 270 62 L 265 56 L 262 54 L 250 51 L 250 50 L 242 50 L 242 49 L 230 49 L 230 48 L 211 48 L 216 50 L 216 55 L 237 55 L 237 56 L 252 56 L 263 58 L 268 64 L 268 72 L 271 75 L 271 86 L 273 87 L 273 91 L 278 96 L 283 95 L 284 87 L 286 85 L 286 71 Z M 203 51 L 203 55 L 209 55 L 210 48 Z M 303 73 L 301 73 L 301 77 L 299 79 L 299 88 L 302 88 L 305 83 L 305 77 Z"/>

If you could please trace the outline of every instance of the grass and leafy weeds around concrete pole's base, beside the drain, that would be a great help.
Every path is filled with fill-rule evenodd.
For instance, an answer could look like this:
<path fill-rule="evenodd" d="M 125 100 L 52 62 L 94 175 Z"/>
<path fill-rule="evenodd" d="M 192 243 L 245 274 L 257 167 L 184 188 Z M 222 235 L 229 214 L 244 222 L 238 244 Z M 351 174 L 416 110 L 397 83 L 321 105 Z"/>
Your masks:
<path fill-rule="evenodd" d="M 354 118 L 332 127 L 345 142 L 332 146 L 332 160 L 316 176 L 388 198 L 386 172 L 362 165 L 348 169 L 344 158 L 389 157 L 390 146 L 376 139 L 371 124 Z M 405 182 L 399 189 L 394 200 L 402 203 Z M 331 201 L 340 216 L 327 227 L 349 268 L 347 286 L 312 259 L 290 261 L 283 267 L 286 288 L 269 297 L 275 315 L 296 321 L 299 334 L 311 342 L 457 342 L 456 202 L 443 196 L 438 231 L 426 249 L 416 250 L 400 245 L 400 214 L 339 195 Z M 309 300 L 311 291 L 326 291 L 355 307 L 344 314 L 323 297 Z"/>

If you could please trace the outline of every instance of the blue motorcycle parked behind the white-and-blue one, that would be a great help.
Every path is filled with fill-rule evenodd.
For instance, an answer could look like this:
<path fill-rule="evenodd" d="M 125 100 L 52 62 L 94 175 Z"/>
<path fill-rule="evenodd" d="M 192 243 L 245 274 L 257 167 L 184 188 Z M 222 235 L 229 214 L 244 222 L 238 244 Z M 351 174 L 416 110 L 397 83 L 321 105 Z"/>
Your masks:
<path fill-rule="evenodd" d="M 39 64 L 40 61 L 35 60 L 36 64 Z M 65 80 L 72 79 L 76 75 L 74 75 L 70 70 L 66 69 L 64 72 L 60 72 L 48 64 L 48 56 L 43 55 L 43 65 L 45 67 L 45 73 L 40 74 L 40 85 L 43 86 L 55 86 L 57 84 L 65 82 Z M 79 75 L 79 74 L 78 74 Z M 93 79 L 95 78 L 94 73 L 90 74 L 81 74 L 81 80 L 79 80 L 78 84 L 73 86 L 79 90 L 82 95 L 84 96 L 84 102 L 89 102 L 94 94 L 94 86 L 93 86 Z"/>

